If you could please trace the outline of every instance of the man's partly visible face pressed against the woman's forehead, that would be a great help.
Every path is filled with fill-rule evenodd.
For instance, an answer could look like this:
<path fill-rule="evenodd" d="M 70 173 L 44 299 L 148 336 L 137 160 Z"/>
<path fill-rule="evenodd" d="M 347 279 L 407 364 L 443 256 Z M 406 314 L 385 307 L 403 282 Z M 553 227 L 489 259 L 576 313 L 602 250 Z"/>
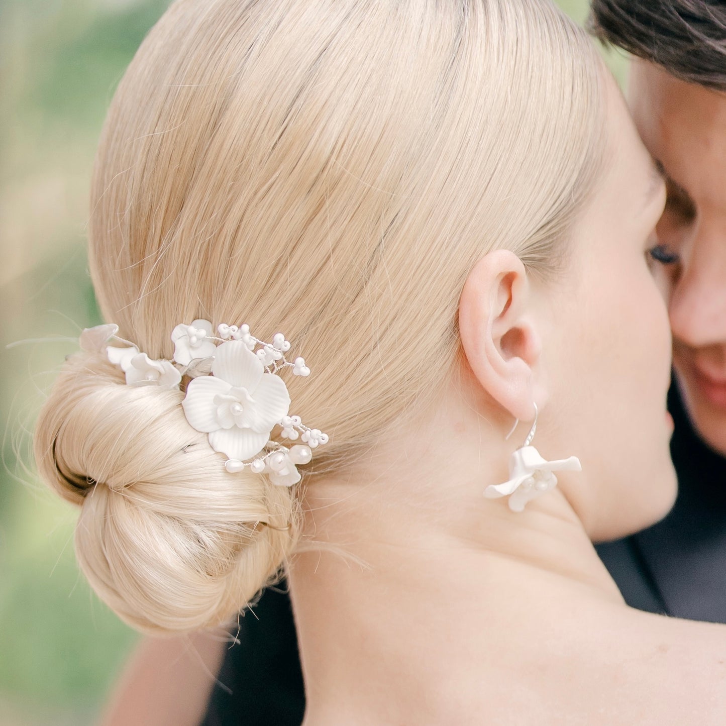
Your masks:
<path fill-rule="evenodd" d="M 726 455 L 726 93 L 637 60 L 628 97 L 669 180 L 656 274 L 669 302 L 677 382 L 701 437 Z"/>

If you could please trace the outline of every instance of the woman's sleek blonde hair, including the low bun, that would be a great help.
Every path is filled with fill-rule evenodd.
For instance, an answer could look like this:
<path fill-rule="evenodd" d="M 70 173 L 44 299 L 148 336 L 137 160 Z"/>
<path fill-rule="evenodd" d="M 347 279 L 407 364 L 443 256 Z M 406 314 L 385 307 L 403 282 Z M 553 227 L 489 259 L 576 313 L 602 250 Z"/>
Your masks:
<path fill-rule="evenodd" d="M 350 467 L 455 375 L 479 258 L 560 266 L 603 159 L 600 83 L 547 0 L 177 0 L 100 142 L 103 314 L 152 357 L 197 317 L 283 330 L 314 368 L 287 379 L 294 412 L 331 436 L 305 476 Z M 80 353 L 36 429 L 83 571 L 150 632 L 227 621 L 300 530 L 301 488 L 226 473 L 183 396 Z"/>

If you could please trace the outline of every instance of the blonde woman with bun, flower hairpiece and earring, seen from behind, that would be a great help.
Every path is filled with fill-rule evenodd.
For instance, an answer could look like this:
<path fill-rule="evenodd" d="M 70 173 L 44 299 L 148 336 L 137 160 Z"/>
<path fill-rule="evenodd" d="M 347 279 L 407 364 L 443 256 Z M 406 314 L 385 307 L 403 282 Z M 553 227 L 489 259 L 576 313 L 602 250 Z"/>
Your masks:
<path fill-rule="evenodd" d="M 91 201 L 36 458 L 121 618 L 285 568 L 307 726 L 724 722 L 726 630 L 591 544 L 674 500 L 664 184 L 549 1 L 177 0 Z"/>

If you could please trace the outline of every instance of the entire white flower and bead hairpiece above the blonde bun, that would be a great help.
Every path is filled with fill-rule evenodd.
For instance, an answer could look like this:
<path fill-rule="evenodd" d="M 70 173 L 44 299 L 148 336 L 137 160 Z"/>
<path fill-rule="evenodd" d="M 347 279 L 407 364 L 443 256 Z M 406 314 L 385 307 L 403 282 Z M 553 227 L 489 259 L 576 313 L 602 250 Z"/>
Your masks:
<path fill-rule="evenodd" d="M 215 451 L 227 455 L 224 467 L 229 473 L 250 468 L 269 474 L 273 484 L 293 486 L 301 479 L 297 465 L 311 460 L 311 449 L 327 444 L 326 433 L 289 415 L 290 394 L 277 372 L 292 367 L 293 375 L 307 376 L 310 369 L 299 356 L 292 363 L 285 359 L 290 342 L 282 333 L 265 343 L 250 335 L 248 325 L 221 324 L 215 336 L 208 320 L 182 323 L 171 333 L 174 362 L 152 360 L 116 333 L 118 325 L 113 324 L 87 328 L 81 333 L 81 348 L 105 350 L 110 362 L 126 374 L 129 386 L 178 389 L 182 376 L 189 376 L 181 401 L 184 415 L 192 428 L 208 434 Z M 110 340 L 126 345 L 110 346 Z M 270 441 L 277 425 L 283 438 L 299 437 L 303 444 L 287 448 Z"/>

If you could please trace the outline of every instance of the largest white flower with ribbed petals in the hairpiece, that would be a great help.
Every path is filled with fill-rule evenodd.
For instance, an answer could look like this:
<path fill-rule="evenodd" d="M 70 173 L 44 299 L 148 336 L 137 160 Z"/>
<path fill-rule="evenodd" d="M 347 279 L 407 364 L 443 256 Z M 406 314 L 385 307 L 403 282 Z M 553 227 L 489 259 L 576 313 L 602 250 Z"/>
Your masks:
<path fill-rule="evenodd" d="M 290 394 L 242 340 L 221 343 L 214 352 L 212 375 L 189 381 L 181 405 L 189 425 L 208 433 L 215 451 L 245 460 L 261 452 L 273 426 L 287 416 Z"/>

